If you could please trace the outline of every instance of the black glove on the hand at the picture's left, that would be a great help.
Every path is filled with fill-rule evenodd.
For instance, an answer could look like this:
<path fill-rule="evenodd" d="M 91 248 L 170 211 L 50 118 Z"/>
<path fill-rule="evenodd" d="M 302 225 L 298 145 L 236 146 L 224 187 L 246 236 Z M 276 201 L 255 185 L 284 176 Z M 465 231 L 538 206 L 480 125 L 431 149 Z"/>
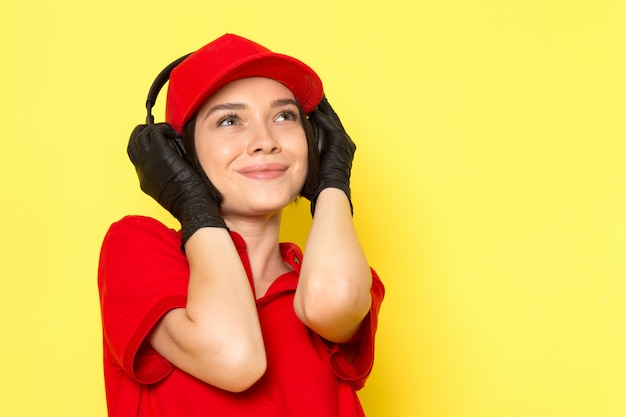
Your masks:
<path fill-rule="evenodd" d="M 128 142 L 141 189 L 178 219 L 184 246 L 201 227 L 227 227 L 209 188 L 180 150 L 178 132 L 167 123 L 138 125 Z"/>

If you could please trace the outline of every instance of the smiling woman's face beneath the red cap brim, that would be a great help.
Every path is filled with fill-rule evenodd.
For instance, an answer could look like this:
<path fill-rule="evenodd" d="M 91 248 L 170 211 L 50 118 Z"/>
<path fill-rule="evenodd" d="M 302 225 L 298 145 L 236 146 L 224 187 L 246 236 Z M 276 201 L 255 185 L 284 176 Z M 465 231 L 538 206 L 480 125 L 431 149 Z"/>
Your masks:
<path fill-rule="evenodd" d="M 195 145 L 207 176 L 224 196 L 222 214 L 263 215 L 302 190 L 307 142 L 293 93 L 268 78 L 221 88 L 196 118 Z"/>

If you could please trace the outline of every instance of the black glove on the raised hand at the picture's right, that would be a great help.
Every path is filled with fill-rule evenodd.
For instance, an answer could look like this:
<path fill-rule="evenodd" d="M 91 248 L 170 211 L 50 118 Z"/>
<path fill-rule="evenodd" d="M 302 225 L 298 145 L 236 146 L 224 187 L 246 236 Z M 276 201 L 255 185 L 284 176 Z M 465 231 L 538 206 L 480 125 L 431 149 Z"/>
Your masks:
<path fill-rule="evenodd" d="M 346 133 L 339 116 L 328 103 L 326 96 L 317 108 L 309 114 L 309 121 L 313 132 L 320 144 L 320 181 L 311 200 L 311 214 L 315 213 L 315 203 L 322 190 L 326 188 L 339 188 L 346 193 L 350 208 L 350 170 L 356 145 Z M 308 197 L 308 196 L 307 196 Z"/>

